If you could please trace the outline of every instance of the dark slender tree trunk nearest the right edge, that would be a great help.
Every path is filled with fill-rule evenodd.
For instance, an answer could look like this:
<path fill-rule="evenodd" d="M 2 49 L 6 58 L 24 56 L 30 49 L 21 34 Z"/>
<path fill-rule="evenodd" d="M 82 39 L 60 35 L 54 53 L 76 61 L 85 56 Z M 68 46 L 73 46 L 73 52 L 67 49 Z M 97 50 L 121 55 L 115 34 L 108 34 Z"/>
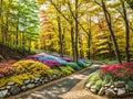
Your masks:
<path fill-rule="evenodd" d="M 127 20 L 127 14 L 126 14 L 126 9 L 125 9 L 125 1 L 121 0 L 122 3 L 122 9 L 123 9 L 123 20 L 125 22 L 125 56 L 126 56 L 126 62 L 130 62 L 130 26 L 129 26 L 129 20 Z"/>

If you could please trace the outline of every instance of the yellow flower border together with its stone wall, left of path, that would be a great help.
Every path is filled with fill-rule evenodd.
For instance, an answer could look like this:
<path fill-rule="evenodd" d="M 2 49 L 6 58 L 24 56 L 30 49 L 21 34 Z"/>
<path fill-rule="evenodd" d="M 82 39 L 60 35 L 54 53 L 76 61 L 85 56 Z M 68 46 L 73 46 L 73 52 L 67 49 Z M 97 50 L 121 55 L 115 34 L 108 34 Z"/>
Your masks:
<path fill-rule="evenodd" d="M 11 67 L 16 68 L 14 73 L 0 78 L 0 97 L 17 95 L 78 70 L 69 64 L 50 67 L 33 59 L 19 61 Z"/>

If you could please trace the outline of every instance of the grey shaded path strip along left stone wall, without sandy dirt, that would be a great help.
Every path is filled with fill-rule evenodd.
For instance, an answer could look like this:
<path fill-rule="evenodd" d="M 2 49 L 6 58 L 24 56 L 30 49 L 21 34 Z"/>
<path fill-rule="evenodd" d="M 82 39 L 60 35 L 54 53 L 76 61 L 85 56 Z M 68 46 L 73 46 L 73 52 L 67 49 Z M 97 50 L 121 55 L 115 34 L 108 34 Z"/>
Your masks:
<path fill-rule="evenodd" d="M 12 98 L 10 97 L 10 99 L 62 99 L 62 95 L 72 90 L 75 86 L 78 86 L 79 82 L 85 79 L 90 73 L 96 70 L 100 66 L 100 64 L 93 64 L 91 67 L 82 72 L 59 79 L 38 89 L 33 89 L 30 92 L 13 96 Z"/>

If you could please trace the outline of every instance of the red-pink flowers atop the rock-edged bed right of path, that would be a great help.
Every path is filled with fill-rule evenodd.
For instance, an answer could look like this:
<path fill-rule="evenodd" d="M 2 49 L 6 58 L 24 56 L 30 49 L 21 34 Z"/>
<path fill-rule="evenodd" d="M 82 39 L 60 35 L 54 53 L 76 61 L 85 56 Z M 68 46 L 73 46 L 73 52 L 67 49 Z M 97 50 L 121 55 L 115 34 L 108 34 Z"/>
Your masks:
<path fill-rule="evenodd" d="M 110 75 L 113 79 L 133 78 L 133 62 L 101 66 L 101 76 Z"/>

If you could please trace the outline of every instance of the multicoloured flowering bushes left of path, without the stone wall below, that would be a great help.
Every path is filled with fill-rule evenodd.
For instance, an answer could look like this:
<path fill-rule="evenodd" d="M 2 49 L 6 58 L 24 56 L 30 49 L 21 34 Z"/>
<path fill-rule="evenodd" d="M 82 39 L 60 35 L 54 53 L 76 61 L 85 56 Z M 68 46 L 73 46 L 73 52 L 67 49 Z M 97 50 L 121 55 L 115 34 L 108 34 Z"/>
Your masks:
<path fill-rule="evenodd" d="M 33 79 L 45 75 L 61 74 L 65 76 L 79 70 L 81 67 L 86 67 L 86 62 L 81 59 L 75 64 L 70 57 L 59 58 L 45 53 L 30 55 L 19 62 L 10 59 L 0 63 L 0 87 L 8 81 L 21 85 L 24 79 Z"/>

